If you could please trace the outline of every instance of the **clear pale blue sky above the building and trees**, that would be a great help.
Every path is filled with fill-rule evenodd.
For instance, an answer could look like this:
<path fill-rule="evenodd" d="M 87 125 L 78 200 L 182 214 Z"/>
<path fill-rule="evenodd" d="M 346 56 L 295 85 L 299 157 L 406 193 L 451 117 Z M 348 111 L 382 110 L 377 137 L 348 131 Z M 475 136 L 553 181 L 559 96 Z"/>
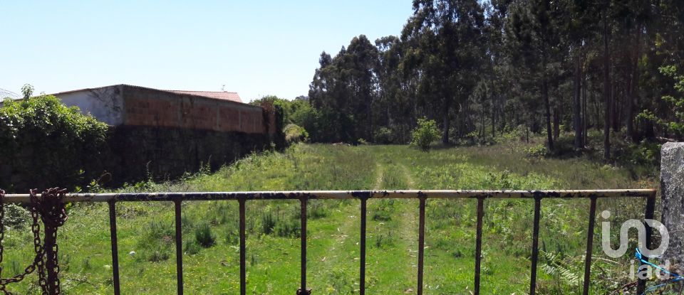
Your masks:
<path fill-rule="evenodd" d="M 306 95 L 322 50 L 398 35 L 411 1 L 0 0 L 0 88 Z"/>

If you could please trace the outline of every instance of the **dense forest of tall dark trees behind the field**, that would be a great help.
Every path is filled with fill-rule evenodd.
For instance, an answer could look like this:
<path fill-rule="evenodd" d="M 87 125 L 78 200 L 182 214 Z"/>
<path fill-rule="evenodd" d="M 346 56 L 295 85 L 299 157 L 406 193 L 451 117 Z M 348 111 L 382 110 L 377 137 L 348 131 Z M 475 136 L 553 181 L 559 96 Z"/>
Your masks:
<path fill-rule="evenodd" d="M 611 132 L 683 139 L 683 24 L 678 0 L 414 0 L 401 36 L 321 53 L 290 119 L 311 141 L 406 143 L 427 117 L 445 144 L 518 128 L 549 151 L 596 129 L 608 159 Z"/>

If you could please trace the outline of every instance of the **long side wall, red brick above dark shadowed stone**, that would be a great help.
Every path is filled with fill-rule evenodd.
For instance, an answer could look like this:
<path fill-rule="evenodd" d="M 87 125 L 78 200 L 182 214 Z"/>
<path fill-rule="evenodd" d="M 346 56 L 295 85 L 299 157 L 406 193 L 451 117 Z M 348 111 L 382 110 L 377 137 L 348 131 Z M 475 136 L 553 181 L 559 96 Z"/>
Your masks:
<path fill-rule="evenodd" d="M 218 168 L 274 141 L 272 107 L 123 85 L 123 124 L 112 127 L 115 184 Z"/>

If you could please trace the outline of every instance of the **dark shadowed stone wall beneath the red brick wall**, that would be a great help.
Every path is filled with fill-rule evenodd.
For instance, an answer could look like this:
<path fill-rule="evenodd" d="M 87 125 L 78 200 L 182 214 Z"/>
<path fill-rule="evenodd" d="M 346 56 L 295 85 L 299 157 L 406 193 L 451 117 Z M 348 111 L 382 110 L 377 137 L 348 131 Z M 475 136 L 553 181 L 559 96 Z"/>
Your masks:
<path fill-rule="evenodd" d="M 109 186 L 148 175 L 156 180 L 177 178 L 202 166 L 216 169 L 271 145 L 269 134 L 145 126 L 113 127 L 108 141 Z"/>

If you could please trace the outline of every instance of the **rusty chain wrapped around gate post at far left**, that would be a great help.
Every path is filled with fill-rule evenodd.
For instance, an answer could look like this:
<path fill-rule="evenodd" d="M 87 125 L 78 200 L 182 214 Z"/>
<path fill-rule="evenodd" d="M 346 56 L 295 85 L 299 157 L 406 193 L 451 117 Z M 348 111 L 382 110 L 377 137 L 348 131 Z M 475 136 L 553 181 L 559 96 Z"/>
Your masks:
<path fill-rule="evenodd" d="M 4 247 L 4 191 L 0 190 L 0 264 L 3 259 Z M 1 278 L 3 268 L 0 266 L 0 291 L 3 294 L 12 294 L 7 290 L 8 284 L 18 283 L 24 280 L 28 274 L 38 274 L 38 285 L 41 286 L 42 294 L 61 294 L 59 284 L 59 262 L 57 245 L 57 228 L 66 222 L 67 215 L 62 202 L 66 190 L 50 188 L 38 198 L 36 190 L 30 191 L 31 196 L 31 233 L 33 233 L 33 251 L 36 257 L 24 272 L 14 277 Z M 45 241 L 41 240 L 41 222 L 45 225 Z"/>

